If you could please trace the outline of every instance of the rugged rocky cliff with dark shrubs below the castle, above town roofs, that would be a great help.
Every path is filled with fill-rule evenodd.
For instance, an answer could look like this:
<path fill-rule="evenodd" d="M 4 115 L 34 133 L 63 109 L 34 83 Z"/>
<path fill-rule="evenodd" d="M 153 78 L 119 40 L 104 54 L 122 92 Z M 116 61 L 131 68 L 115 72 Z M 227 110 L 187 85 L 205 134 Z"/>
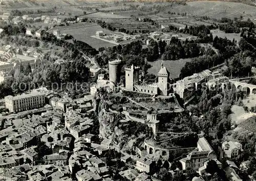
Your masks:
<path fill-rule="evenodd" d="M 96 102 L 100 125 L 99 137 L 112 140 L 112 143 L 119 150 L 135 150 L 136 146 L 153 135 L 151 128 L 145 124 L 135 121 L 120 122 L 123 119 L 122 114 L 109 111 L 110 106 L 107 97 L 98 97 Z"/>

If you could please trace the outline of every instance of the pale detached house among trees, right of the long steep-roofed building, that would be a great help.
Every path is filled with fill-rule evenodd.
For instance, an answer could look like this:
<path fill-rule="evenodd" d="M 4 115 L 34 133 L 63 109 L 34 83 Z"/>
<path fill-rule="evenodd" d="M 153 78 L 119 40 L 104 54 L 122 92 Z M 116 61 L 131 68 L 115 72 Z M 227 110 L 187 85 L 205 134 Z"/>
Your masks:
<path fill-rule="evenodd" d="M 224 157 L 229 159 L 238 159 L 243 151 L 242 144 L 239 142 L 224 141 L 221 146 Z"/>

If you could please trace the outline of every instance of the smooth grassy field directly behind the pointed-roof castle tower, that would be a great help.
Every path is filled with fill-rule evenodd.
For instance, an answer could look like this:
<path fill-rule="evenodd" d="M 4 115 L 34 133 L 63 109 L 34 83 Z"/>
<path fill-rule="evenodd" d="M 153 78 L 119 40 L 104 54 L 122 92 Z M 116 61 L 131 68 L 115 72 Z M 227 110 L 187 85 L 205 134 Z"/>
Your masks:
<path fill-rule="evenodd" d="M 184 67 L 186 62 L 190 62 L 191 59 L 180 59 L 180 60 L 166 60 L 163 61 L 164 66 L 167 68 L 167 70 L 170 72 L 170 78 L 176 78 L 180 74 L 180 70 L 182 67 Z M 155 62 L 148 62 L 152 67 L 148 69 L 148 73 L 152 73 L 157 75 L 160 68 L 162 60 L 158 60 Z"/>

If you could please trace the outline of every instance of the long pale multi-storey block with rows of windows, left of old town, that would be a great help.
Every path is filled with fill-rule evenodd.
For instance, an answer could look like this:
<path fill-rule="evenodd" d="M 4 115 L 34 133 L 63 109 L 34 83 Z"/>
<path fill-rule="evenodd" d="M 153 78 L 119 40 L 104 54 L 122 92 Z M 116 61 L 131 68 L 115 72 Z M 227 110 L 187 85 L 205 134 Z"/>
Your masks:
<path fill-rule="evenodd" d="M 40 108 L 45 105 L 45 94 L 30 93 L 5 97 L 5 106 L 10 112 L 20 112 Z"/>

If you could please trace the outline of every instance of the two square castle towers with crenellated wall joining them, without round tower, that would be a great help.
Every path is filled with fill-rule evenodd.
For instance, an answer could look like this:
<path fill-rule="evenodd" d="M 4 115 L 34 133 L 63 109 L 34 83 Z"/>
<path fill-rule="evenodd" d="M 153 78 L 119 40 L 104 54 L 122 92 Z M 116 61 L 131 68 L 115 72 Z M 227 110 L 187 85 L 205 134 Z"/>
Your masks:
<path fill-rule="evenodd" d="M 139 79 L 139 67 L 125 68 L 125 89 L 149 94 L 168 95 L 169 93 L 169 72 L 166 67 L 161 64 L 158 72 L 158 83 L 144 84 Z"/>

